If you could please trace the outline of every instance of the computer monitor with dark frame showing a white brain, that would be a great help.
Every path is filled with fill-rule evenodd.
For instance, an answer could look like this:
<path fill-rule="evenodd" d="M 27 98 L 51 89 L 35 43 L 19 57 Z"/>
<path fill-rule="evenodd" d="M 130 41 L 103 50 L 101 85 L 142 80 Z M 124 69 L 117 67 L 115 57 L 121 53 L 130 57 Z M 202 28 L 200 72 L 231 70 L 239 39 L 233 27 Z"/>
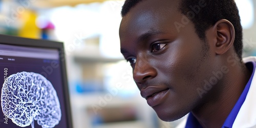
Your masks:
<path fill-rule="evenodd" d="M 61 42 L 0 35 L 0 127 L 72 127 Z"/>

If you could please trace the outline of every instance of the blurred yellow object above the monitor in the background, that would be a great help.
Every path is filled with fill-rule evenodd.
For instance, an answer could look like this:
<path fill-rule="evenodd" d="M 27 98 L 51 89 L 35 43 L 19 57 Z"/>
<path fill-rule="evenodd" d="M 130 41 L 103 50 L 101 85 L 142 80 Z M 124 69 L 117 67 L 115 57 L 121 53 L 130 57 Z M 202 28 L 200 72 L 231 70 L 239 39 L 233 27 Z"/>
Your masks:
<path fill-rule="evenodd" d="M 36 26 L 37 15 L 35 12 L 26 10 L 20 14 L 23 26 L 18 30 L 18 36 L 26 38 L 40 38 L 41 31 Z"/>

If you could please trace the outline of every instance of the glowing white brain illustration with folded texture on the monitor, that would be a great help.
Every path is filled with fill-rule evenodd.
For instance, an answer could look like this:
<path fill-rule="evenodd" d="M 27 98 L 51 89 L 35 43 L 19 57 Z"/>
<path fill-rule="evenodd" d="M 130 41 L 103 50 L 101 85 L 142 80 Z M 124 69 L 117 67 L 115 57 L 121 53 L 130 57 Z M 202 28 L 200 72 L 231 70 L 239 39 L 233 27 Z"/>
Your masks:
<path fill-rule="evenodd" d="M 33 72 L 12 74 L 5 80 L 1 105 L 3 113 L 18 126 L 54 127 L 61 118 L 59 99 L 52 83 Z"/>

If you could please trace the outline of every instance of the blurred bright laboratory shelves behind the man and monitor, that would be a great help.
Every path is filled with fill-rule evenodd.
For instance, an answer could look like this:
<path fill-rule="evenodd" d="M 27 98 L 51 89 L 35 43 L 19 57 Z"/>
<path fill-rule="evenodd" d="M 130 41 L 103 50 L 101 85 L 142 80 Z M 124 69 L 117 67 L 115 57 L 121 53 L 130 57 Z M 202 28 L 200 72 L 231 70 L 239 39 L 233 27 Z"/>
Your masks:
<path fill-rule="evenodd" d="M 244 28 L 244 57 L 256 55 L 256 1 L 236 0 Z M 65 44 L 73 125 L 175 127 L 160 121 L 133 81 L 119 50 L 124 1 L 0 0 L 0 34 Z"/>

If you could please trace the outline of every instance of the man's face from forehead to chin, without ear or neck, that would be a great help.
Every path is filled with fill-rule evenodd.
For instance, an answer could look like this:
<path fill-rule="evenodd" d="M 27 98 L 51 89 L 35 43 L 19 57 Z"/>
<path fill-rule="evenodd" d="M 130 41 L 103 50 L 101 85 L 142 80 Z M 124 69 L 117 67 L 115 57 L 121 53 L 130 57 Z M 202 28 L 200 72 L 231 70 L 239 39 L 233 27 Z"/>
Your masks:
<path fill-rule="evenodd" d="M 121 52 L 131 62 L 134 80 L 160 119 L 173 121 L 199 108 L 214 69 L 214 54 L 189 22 L 182 24 L 176 1 L 142 1 L 122 18 Z"/>

